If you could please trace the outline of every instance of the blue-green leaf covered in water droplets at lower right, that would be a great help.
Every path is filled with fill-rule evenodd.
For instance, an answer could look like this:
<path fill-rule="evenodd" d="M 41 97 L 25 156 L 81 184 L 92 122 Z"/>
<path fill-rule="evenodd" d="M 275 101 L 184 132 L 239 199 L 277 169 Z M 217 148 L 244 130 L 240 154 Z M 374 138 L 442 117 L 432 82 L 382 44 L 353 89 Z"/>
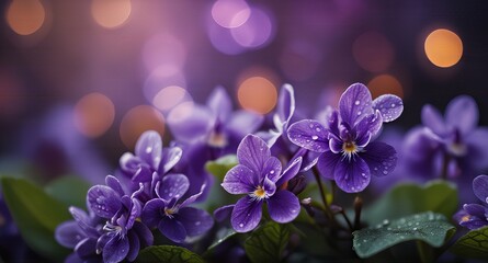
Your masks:
<path fill-rule="evenodd" d="M 439 248 L 454 230 L 443 215 L 427 211 L 354 231 L 353 248 L 362 259 L 410 240 Z"/>

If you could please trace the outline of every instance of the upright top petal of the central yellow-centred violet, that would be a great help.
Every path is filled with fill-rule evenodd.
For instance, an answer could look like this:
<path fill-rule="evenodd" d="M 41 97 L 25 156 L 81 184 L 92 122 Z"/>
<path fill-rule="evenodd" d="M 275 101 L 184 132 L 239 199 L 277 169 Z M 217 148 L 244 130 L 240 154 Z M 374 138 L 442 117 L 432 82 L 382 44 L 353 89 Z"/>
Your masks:
<path fill-rule="evenodd" d="M 270 159 L 271 151 L 266 142 L 256 135 L 247 135 L 237 148 L 237 159 L 240 164 L 260 174 L 264 163 Z"/>

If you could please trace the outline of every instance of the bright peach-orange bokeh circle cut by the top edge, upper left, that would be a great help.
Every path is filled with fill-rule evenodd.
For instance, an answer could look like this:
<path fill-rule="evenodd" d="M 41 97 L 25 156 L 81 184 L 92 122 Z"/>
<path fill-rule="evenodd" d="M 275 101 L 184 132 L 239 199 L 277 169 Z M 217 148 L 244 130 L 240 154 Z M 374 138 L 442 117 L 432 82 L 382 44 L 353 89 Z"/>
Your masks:
<path fill-rule="evenodd" d="M 95 22 L 106 28 L 123 25 L 132 11 L 130 0 L 93 0 L 91 14 Z"/>

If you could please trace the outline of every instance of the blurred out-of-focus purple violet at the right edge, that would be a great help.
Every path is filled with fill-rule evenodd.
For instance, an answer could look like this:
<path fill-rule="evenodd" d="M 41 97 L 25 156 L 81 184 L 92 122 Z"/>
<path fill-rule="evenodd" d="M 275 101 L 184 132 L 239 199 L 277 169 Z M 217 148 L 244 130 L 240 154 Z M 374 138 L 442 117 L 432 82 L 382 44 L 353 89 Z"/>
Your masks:
<path fill-rule="evenodd" d="M 432 105 L 422 108 L 424 127 L 406 139 L 406 161 L 416 174 L 455 178 L 488 168 L 488 128 L 478 127 L 478 106 L 473 98 L 454 98 L 442 114 Z"/>

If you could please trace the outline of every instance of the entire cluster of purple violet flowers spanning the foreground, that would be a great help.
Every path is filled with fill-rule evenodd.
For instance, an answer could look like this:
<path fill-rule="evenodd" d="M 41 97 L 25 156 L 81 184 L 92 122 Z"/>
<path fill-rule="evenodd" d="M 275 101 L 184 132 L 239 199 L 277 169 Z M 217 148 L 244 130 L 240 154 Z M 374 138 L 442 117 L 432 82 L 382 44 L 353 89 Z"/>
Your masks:
<path fill-rule="evenodd" d="M 341 239 L 364 228 L 359 193 L 373 178 L 388 175 L 394 182 L 423 169 L 417 174 L 435 178 L 435 170 L 452 179 L 488 168 L 488 146 L 483 142 L 488 132 L 477 127 L 472 98 L 454 99 L 445 121 L 427 105 L 423 126 L 408 132 L 404 142 L 394 141 L 395 149 L 381 140 L 381 134 L 384 124 L 402 111 L 400 98 L 384 94 L 373 100 L 364 84 L 354 83 L 342 93 L 337 108 L 327 105 L 315 119 L 299 118 L 303 113 L 296 112 L 294 90 L 284 84 L 268 123 L 251 112 L 232 112 L 228 94 L 219 87 L 205 105 L 192 105 L 184 118 L 168 118 L 173 134 L 169 147 L 162 146 L 156 132 L 144 133 L 134 153 L 121 157 L 114 175 L 89 188 L 87 210 L 69 208 L 73 220 L 57 227 L 56 240 L 73 249 L 68 262 L 132 262 L 146 247 L 175 243 L 197 250 L 200 240 L 201 245 L 215 248 L 208 247 L 208 240 L 220 243 L 223 231 L 227 237 L 251 233 L 253 238 L 261 225 L 285 225 L 297 218 L 303 222 L 306 216 L 317 229 L 329 229 L 327 235 Z M 207 168 L 228 157 L 235 161 L 219 170 L 220 175 Z M 355 194 L 354 220 L 336 204 L 341 203 L 334 199 L 336 186 L 345 195 Z M 488 176 L 477 176 L 473 190 L 484 205 L 466 204 L 454 219 L 476 230 L 488 226 Z M 213 198 L 219 201 L 208 202 Z M 413 217 L 418 218 L 422 216 Z M 427 215 L 428 220 L 439 218 Z M 232 242 L 239 243 L 229 241 L 225 258 L 242 255 L 241 247 L 236 250 Z M 222 260 L 213 253 L 206 255 Z"/>

